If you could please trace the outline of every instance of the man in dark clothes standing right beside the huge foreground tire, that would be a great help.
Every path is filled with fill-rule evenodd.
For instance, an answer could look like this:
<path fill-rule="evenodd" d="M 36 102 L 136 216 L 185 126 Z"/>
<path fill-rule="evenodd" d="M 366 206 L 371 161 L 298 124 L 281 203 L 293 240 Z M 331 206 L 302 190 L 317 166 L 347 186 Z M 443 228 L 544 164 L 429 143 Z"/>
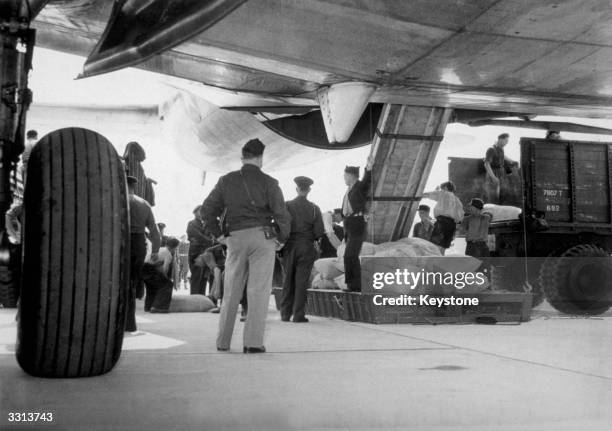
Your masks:
<path fill-rule="evenodd" d="M 142 267 L 147 255 L 145 229 L 149 230 L 151 240 L 151 262 L 157 260 L 161 238 L 155 224 L 151 206 L 144 199 L 136 196 L 135 188 L 138 180 L 128 176 L 128 196 L 130 204 L 130 291 L 128 295 L 128 311 L 125 322 L 127 332 L 136 332 L 136 291 L 142 283 Z"/>

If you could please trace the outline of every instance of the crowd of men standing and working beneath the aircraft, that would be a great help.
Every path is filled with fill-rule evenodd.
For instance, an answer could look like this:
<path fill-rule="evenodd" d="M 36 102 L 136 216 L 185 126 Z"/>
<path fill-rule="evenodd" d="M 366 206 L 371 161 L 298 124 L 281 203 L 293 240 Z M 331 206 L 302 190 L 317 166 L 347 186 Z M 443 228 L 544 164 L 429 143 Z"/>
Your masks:
<path fill-rule="evenodd" d="M 500 185 L 516 166 L 516 162 L 504 155 L 508 138 L 507 133 L 501 134 L 484 158 L 490 202 L 500 201 Z M 346 290 L 361 290 L 359 253 L 366 233 L 365 212 L 372 159 L 368 159 L 362 179 L 359 179 L 359 167 L 345 168 L 347 191 L 342 207 L 322 214 L 319 207 L 308 200 L 313 185 L 308 177 L 294 179 L 296 197 L 285 201 L 278 181 L 261 170 L 264 149 L 258 139 L 248 141 L 242 148 L 241 169 L 219 179 L 203 204 L 193 210 L 193 220 L 187 225 L 191 294 L 204 295 L 209 285 L 208 295 L 220 303 L 214 310 L 220 313 L 216 342 L 219 351 L 230 348 L 238 305 L 242 304 L 241 320 L 246 321 L 243 351 L 265 352 L 265 318 L 278 266 L 277 257 L 284 273 L 280 304 L 283 322 L 308 322 L 304 308 L 313 264 L 317 258 L 335 256 L 341 242 L 345 243 Z M 144 280 L 147 297 L 151 296 L 145 310 L 167 312 L 172 295 L 169 281 L 172 280 L 169 274 L 172 265 L 169 262 L 179 241 L 174 238 L 162 241 L 150 205 L 133 192 L 138 179 L 128 177 L 128 182 L 130 206 L 134 205 L 132 244 L 135 260 L 132 270 L 135 293 L 131 298 L 138 297 L 138 284 Z M 420 221 L 414 227 L 413 236 L 438 245 L 444 254 L 460 226 L 467 241 L 466 254 L 489 255 L 487 236 L 491 215 L 483 211 L 482 199 L 473 198 L 466 213 L 450 181 L 424 193 L 423 197 L 436 201 L 434 219 L 430 217 L 431 208 L 420 205 Z M 151 241 L 151 254 L 146 264 L 145 228 L 149 230 Z M 132 304 L 133 301 L 131 313 Z M 131 329 L 135 330 L 135 321 L 128 319 L 127 330 Z"/>

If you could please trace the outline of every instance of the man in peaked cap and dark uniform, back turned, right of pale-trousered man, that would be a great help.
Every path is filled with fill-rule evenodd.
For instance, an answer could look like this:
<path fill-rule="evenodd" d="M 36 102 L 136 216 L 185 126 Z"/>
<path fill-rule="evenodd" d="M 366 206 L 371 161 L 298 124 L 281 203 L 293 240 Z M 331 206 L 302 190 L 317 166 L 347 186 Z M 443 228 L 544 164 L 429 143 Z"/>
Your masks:
<path fill-rule="evenodd" d="M 281 300 L 281 320 L 288 322 L 293 315 L 296 323 L 308 322 L 305 317 L 306 289 L 317 258 L 314 242 L 325 233 L 323 218 L 318 206 L 308 201 L 313 181 L 308 177 L 296 177 L 297 197 L 287 202 L 291 214 L 291 233 L 283 249 L 285 280 Z"/>

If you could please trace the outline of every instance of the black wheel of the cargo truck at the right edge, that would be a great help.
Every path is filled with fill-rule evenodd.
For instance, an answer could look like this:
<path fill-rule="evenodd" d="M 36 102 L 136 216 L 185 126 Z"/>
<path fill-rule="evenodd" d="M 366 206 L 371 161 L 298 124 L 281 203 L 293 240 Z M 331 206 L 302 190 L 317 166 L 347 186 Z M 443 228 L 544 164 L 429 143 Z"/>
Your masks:
<path fill-rule="evenodd" d="M 566 314 L 598 315 L 606 312 L 612 306 L 608 287 L 610 279 L 610 255 L 592 244 L 576 245 L 559 257 L 548 257 L 540 271 L 546 299 Z"/>

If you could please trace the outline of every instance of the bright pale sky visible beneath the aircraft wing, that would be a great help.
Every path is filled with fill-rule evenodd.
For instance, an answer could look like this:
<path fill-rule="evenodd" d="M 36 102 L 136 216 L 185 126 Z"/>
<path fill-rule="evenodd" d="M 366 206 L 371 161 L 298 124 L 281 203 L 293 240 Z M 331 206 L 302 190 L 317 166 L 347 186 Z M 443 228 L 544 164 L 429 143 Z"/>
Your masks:
<path fill-rule="evenodd" d="M 147 153 L 143 163 L 145 173 L 158 182 L 154 207 L 156 219 L 166 223 L 168 234 L 180 237 L 192 217 L 193 208 L 203 201 L 219 176 L 229 169 L 220 165 L 205 171 L 201 166 L 190 163 L 184 154 L 177 153 L 176 146 L 164 141 L 156 115 L 135 115 L 125 109 L 133 106 L 155 107 L 163 103 L 176 91 L 168 85 L 170 78 L 130 68 L 75 80 L 84 61 L 82 57 L 36 48 L 29 81 L 34 103 L 28 114 L 28 128 L 37 129 L 40 136 L 43 136 L 61 127 L 88 127 L 106 136 L 119 155 L 123 154 L 127 142 L 135 140 L 141 143 Z M 68 106 L 71 109 L 57 110 L 48 108 L 48 105 Z M 82 109 L 96 106 L 113 109 L 103 113 Z M 556 119 L 612 127 L 607 120 Z M 519 159 L 518 142 L 522 136 L 541 138 L 545 134 L 541 130 L 493 126 L 473 128 L 450 124 L 446 128 L 426 188 L 433 189 L 448 178 L 448 157 L 483 157 L 486 149 L 502 132 L 510 133 L 506 154 L 515 160 Z M 563 138 L 612 140 L 606 136 L 570 133 L 564 133 Z M 311 177 L 314 185 L 310 200 L 322 210 L 331 210 L 341 206 L 345 192 L 342 179 L 344 166 L 363 167 L 369 152 L 369 145 L 354 150 L 321 151 L 320 159 L 284 171 L 275 171 L 273 166 L 267 166 L 264 157 L 264 171 L 279 180 L 286 199 L 295 196 L 295 184 L 292 181 L 295 176 Z M 238 159 L 239 154 L 236 157 Z"/>

